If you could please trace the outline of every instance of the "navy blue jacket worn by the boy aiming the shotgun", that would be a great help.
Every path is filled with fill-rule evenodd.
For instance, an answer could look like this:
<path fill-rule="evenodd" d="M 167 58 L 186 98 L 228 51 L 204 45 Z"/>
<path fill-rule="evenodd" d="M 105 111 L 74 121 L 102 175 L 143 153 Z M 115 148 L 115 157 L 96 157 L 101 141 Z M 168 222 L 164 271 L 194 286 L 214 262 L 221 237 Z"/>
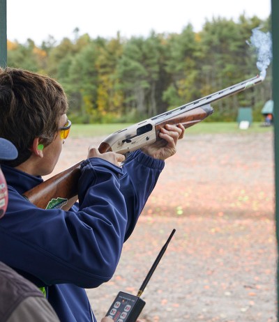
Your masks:
<path fill-rule="evenodd" d="M 0 220 L 0 261 L 45 286 L 62 322 L 96 321 L 84 288 L 110 280 L 164 162 L 140 151 L 120 167 L 99 158 L 82 162 L 79 204 L 43 210 L 22 193 L 42 182 L 2 166 L 9 202 Z M 105 312 L 104 312 L 105 314 Z"/>

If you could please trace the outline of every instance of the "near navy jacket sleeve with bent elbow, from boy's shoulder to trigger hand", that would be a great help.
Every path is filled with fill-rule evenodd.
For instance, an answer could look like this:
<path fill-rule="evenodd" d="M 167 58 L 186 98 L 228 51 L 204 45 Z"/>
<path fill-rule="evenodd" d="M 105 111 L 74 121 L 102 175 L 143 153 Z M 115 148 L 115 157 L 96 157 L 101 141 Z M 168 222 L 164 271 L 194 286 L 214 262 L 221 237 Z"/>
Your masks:
<path fill-rule="evenodd" d="M 121 168 L 93 158 L 82 163 L 80 208 L 43 210 L 9 190 L 0 221 L 0 259 L 45 285 L 84 288 L 107 282 L 116 269 L 127 226 Z"/>

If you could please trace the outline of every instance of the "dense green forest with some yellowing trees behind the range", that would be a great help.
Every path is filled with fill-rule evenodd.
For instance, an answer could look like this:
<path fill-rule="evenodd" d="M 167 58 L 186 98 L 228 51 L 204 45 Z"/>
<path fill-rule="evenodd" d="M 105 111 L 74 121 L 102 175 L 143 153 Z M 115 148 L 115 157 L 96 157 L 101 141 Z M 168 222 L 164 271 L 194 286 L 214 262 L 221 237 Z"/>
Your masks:
<path fill-rule="evenodd" d="M 270 19 L 241 15 L 206 20 L 202 31 L 188 24 L 181 33 L 148 37 L 95 38 L 73 31 L 61 42 L 49 36 L 36 45 L 8 40 L 8 66 L 54 77 L 66 91 L 75 123 L 137 122 L 254 77 L 257 54 L 252 29 L 270 30 Z M 262 84 L 213 104 L 206 121 L 236 121 L 239 107 L 253 120 L 271 99 L 271 67 Z"/>

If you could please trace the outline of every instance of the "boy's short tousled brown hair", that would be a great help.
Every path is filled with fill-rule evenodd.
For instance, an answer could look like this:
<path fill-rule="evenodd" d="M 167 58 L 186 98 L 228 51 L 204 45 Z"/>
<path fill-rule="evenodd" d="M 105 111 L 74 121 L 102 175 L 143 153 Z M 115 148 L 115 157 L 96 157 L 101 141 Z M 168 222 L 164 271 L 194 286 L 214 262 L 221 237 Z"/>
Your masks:
<path fill-rule="evenodd" d="M 67 110 L 66 94 L 56 80 L 20 68 L 0 68 L 0 137 L 18 151 L 17 159 L 3 163 L 17 167 L 26 161 L 36 137 L 49 145 Z"/>

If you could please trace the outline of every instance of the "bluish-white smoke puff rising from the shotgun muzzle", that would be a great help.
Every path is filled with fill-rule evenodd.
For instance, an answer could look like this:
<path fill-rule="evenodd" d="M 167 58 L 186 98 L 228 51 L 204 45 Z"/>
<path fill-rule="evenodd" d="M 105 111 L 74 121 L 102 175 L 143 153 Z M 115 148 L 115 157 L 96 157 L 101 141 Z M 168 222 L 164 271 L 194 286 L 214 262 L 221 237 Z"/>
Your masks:
<path fill-rule="evenodd" d="M 264 33 L 259 28 L 252 29 L 252 36 L 248 45 L 255 47 L 257 52 L 257 68 L 261 77 L 266 77 L 266 69 L 272 60 L 272 39 L 271 33 Z"/>

